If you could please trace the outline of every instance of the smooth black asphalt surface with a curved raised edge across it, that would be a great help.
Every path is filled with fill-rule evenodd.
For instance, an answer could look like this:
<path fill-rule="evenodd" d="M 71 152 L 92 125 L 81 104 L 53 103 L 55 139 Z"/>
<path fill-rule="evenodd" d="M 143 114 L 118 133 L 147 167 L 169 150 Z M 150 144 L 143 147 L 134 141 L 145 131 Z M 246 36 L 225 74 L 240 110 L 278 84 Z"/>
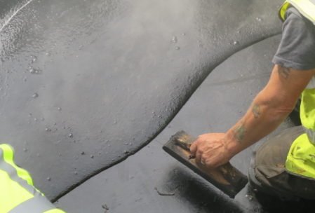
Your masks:
<path fill-rule="evenodd" d="M 62 197 L 69 212 L 104 212 L 101 201 L 108 212 L 163 212 L 163 206 L 164 212 L 222 212 L 225 205 L 210 210 L 216 200 L 210 205 L 201 198 L 217 191 L 163 153 L 161 144 L 183 128 L 192 135 L 227 130 L 246 111 L 269 77 L 279 36 L 267 38 L 281 33 L 281 4 L 2 0 L 1 142 L 15 147 L 18 165 L 37 188 L 51 200 Z M 235 158 L 244 172 L 249 153 Z M 123 165 L 128 170 L 119 169 Z M 136 174 L 130 176 L 129 167 L 141 179 L 131 179 Z M 184 195 L 185 186 L 165 188 L 171 177 L 201 188 L 202 196 Z M 179 193 L 160 198 L 154 185 Z M 239 196 L 228 209 L 250 208 L 245 192 Z M 215 199 L 231 201 L 220 193 Z"/>

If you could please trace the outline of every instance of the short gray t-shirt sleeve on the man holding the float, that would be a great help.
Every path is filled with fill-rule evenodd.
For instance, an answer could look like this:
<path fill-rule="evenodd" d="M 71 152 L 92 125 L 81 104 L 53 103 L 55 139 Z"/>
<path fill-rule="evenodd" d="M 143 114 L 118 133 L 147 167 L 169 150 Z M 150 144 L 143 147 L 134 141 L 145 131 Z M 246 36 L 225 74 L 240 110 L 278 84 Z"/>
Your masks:
<path fill-rule="evenodd" d="M 282 39 L 272 62 L 299 70 L 315 69 L 315 25 L 293 7 L 286 12 Z"/>

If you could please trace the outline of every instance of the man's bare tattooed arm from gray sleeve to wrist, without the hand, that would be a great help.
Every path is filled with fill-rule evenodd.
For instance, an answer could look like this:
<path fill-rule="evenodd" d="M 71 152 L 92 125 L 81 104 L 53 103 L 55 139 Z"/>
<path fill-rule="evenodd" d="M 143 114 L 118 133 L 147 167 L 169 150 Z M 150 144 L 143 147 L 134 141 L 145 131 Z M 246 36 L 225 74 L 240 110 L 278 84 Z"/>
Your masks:
<path fill-rule="evenodd" d="M 257 94 L 246 114 L 226 132 L 230 149 L 238 153 L 274 131 L 293 110 L 314 74 L 315 70 L 298 71 L 276 65 L 269 83 Z"/>

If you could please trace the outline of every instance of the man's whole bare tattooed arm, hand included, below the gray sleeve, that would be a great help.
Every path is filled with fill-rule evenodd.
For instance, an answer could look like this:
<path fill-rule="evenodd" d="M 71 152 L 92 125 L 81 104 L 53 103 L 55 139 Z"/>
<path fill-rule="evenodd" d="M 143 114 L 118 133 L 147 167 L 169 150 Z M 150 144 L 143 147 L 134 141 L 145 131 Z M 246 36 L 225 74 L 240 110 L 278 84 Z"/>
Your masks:
<path fill-rule="evenodd" d="M 227 163 L 236 153 L 274 131 L 295 107 L 300 93 L 315 74 L 276 65 L 246 114 L 225 133 L 208 133 L 190 146 L 197 162 L 207 167 Z"/>

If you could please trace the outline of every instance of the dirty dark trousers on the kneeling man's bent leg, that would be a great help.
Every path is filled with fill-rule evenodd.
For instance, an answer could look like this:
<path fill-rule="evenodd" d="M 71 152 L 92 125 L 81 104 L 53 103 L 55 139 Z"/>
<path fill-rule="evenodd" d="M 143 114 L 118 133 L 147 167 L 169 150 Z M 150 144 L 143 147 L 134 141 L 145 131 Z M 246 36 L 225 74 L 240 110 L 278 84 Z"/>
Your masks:
<path fill-rule="evenodd" d="M 288 128 L 256 149 L 250 161 L 249 181 L 253 188 L 283 200 L 315 200 L 315 179 L 286 170 L 286 157 L 302 126 Z"/>

